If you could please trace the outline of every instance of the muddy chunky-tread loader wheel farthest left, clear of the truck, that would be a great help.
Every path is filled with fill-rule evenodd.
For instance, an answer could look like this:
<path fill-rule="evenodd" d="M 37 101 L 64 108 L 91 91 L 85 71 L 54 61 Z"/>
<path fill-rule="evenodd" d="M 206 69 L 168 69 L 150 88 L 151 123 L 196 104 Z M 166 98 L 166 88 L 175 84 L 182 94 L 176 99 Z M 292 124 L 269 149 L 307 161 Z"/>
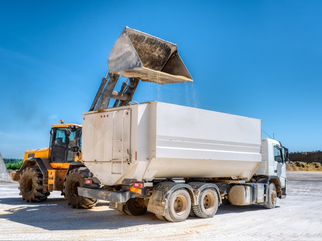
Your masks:
<path fill-rule="evenodd" d="M 43 191 L 43 173 L 38 166 L 27 167 L 20 174 L 20 193 L 26 202 L 42 202 L 47 199 L 50 192 Z"/>

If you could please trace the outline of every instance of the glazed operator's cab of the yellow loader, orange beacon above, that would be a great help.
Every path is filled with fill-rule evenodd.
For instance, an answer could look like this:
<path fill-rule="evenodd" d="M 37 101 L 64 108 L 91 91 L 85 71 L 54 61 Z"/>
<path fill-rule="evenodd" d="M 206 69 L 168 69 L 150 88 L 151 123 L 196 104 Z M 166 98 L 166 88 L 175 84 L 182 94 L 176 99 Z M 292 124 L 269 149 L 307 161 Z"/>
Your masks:
<path fill-rule="evenodd" d="M 81 125 L 52 125 L 49 151 L 51 165 L 64 169 L 64 163 L 75 160 L 75 151 L 81 151 Z"/>

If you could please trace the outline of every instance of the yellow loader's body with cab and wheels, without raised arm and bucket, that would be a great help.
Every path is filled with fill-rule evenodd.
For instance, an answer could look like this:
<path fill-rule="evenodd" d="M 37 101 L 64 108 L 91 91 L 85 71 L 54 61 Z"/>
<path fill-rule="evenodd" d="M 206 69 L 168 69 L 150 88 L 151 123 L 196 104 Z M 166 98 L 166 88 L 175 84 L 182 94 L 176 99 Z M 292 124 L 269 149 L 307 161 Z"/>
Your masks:
<path fill-rule="evenodd" d="M 96 199 L 78 196 L 77 187 L 85 184 L 89 170 L 81 160 L 81 125 L 52 125 L 49 148 L 28 150 L 20 170 L 11 173 L 19 182 L 20 195 L 26 202 L 42 202 L 50 192 L 62 191 L 73 208 L 91 208 Z M 66 180 L 66 176 L 70 176 Z"/>

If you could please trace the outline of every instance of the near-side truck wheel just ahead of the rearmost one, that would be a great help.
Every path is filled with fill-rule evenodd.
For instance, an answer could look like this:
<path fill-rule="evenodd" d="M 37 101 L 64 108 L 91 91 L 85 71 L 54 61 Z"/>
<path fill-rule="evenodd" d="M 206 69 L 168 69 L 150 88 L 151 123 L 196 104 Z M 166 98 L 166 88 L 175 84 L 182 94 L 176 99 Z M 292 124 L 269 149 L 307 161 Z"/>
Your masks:
<path fill-rule="evenodd" d="M 199 218 L 212 218 L 218 210 L 218 195 L 213 188 L 200 192 L 198 205 L 193 205 L 194 214 Z"/>

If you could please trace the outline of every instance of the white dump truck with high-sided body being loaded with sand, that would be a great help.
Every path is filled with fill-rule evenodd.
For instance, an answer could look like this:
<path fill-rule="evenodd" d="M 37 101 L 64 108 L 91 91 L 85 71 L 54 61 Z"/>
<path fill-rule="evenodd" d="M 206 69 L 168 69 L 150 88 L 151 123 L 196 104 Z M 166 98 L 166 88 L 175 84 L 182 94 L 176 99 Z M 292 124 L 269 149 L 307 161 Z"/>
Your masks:
<path fill-rule="evenodd" d="M 82 130 L 78 194 L 129 215 L 211 218 L 221 202 L 272 209 L 286 196 L 288 150 L 261 139 L 259 119 L 153 101 L 86 112 Z"/>

